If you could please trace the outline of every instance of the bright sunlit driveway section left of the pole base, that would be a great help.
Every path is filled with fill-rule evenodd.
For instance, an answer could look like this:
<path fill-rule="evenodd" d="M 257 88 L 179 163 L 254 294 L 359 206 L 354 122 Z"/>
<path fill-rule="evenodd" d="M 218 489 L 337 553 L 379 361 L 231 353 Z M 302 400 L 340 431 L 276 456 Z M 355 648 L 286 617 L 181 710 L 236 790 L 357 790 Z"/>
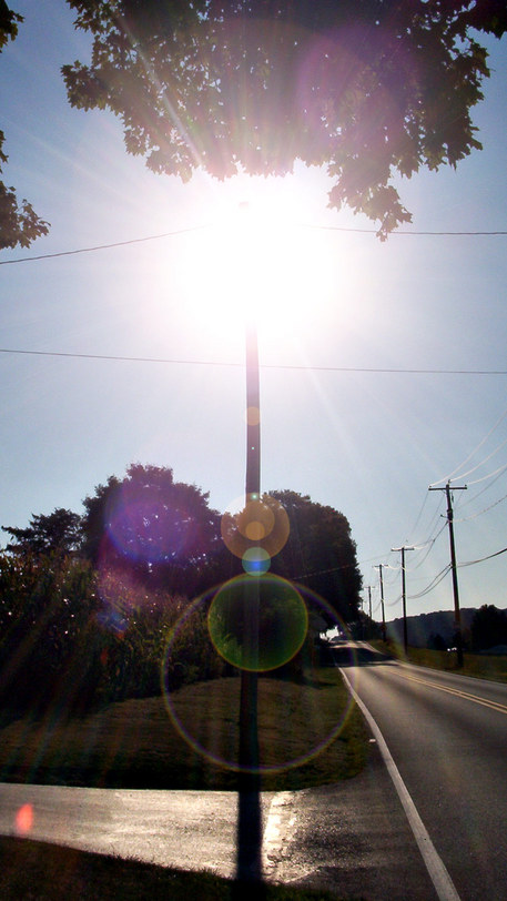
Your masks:
<path fill-rule="evenodd" d="M 31 806 L 30 829 L 17 817 Z M 232 875 L 231 792 L 0 784 L 0 832 L 181 869 Z"/>

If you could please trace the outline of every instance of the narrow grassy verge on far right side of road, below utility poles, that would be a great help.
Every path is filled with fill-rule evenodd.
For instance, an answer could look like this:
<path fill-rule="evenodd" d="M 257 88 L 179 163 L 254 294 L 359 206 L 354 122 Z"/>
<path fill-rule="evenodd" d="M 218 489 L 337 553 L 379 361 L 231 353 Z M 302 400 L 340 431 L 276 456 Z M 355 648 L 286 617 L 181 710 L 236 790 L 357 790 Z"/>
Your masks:
<path fill-rule="evenodd" d="M 398 660 L 407 660 L 409 664 L 417 664 L 420 667 L 440 669 L 446 672 L 459 672 L 463 676 L 475 676 L 480 679 L 491 679 L 497 682 L 507 682 L 507 657 L 489 656 L 483 654 L 464 652 L 463 669 L 458 668 L 456 651 L 429 650 L 429 648 L 408 648 L 407 654 L 402 645 L 395 641 L 369 642 L 373 647 L 385 654 L 391 654 Z"/>

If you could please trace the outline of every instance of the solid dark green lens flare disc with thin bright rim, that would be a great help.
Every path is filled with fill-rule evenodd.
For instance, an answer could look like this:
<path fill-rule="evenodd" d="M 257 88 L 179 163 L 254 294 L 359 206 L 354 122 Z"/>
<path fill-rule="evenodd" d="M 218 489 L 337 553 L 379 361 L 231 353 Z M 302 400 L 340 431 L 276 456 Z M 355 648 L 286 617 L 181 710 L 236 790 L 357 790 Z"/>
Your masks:
<path fill-rule="evenodd" d="M 277 669 L 301 649 L 308 629 L 305 603 L 280 576 L 236 576 L 220 588 L 207 614 L 214 648 L 237 669 Z"/>

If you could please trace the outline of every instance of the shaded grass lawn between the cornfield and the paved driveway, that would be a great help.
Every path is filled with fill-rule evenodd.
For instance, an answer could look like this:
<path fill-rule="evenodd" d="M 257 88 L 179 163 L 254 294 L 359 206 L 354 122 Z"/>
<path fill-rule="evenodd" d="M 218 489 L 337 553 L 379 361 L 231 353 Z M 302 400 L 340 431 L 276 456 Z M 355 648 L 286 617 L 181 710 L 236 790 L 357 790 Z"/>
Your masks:
<path fill-rule="evenodd" d="M 237 788 L 233 765 L 240 679 L 186 686 L 172 701 L 186 738 L 162 698 L 112 703 L 65 722 L 51 713 L 16 720 L 0 730 L 0 780 L 100 788 Z M 355 776 L 366 760 L 363 720 L 334 669 L 316 670 L 304 685 L 261 678 L 258 735 L 266 769 L 263 790 L 335 782 Z"/>

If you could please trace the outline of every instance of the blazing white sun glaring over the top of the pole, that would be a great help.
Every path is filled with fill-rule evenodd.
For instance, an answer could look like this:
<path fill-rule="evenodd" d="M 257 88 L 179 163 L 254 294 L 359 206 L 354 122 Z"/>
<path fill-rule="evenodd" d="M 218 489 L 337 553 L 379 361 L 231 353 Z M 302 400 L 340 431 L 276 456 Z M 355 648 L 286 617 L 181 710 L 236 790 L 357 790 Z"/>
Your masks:
<path fill-rule="evenodd" d="M 241 186 L 236 199 L 215 205 L 181 257 L 185 308 L 219 343 L 237 341 L 249 322 L 261 341 L 284 342 L 332 295 L 333 259 L 322 233 L 306 225 L 295 191 L 288 200 L 275 185 Z"/>

